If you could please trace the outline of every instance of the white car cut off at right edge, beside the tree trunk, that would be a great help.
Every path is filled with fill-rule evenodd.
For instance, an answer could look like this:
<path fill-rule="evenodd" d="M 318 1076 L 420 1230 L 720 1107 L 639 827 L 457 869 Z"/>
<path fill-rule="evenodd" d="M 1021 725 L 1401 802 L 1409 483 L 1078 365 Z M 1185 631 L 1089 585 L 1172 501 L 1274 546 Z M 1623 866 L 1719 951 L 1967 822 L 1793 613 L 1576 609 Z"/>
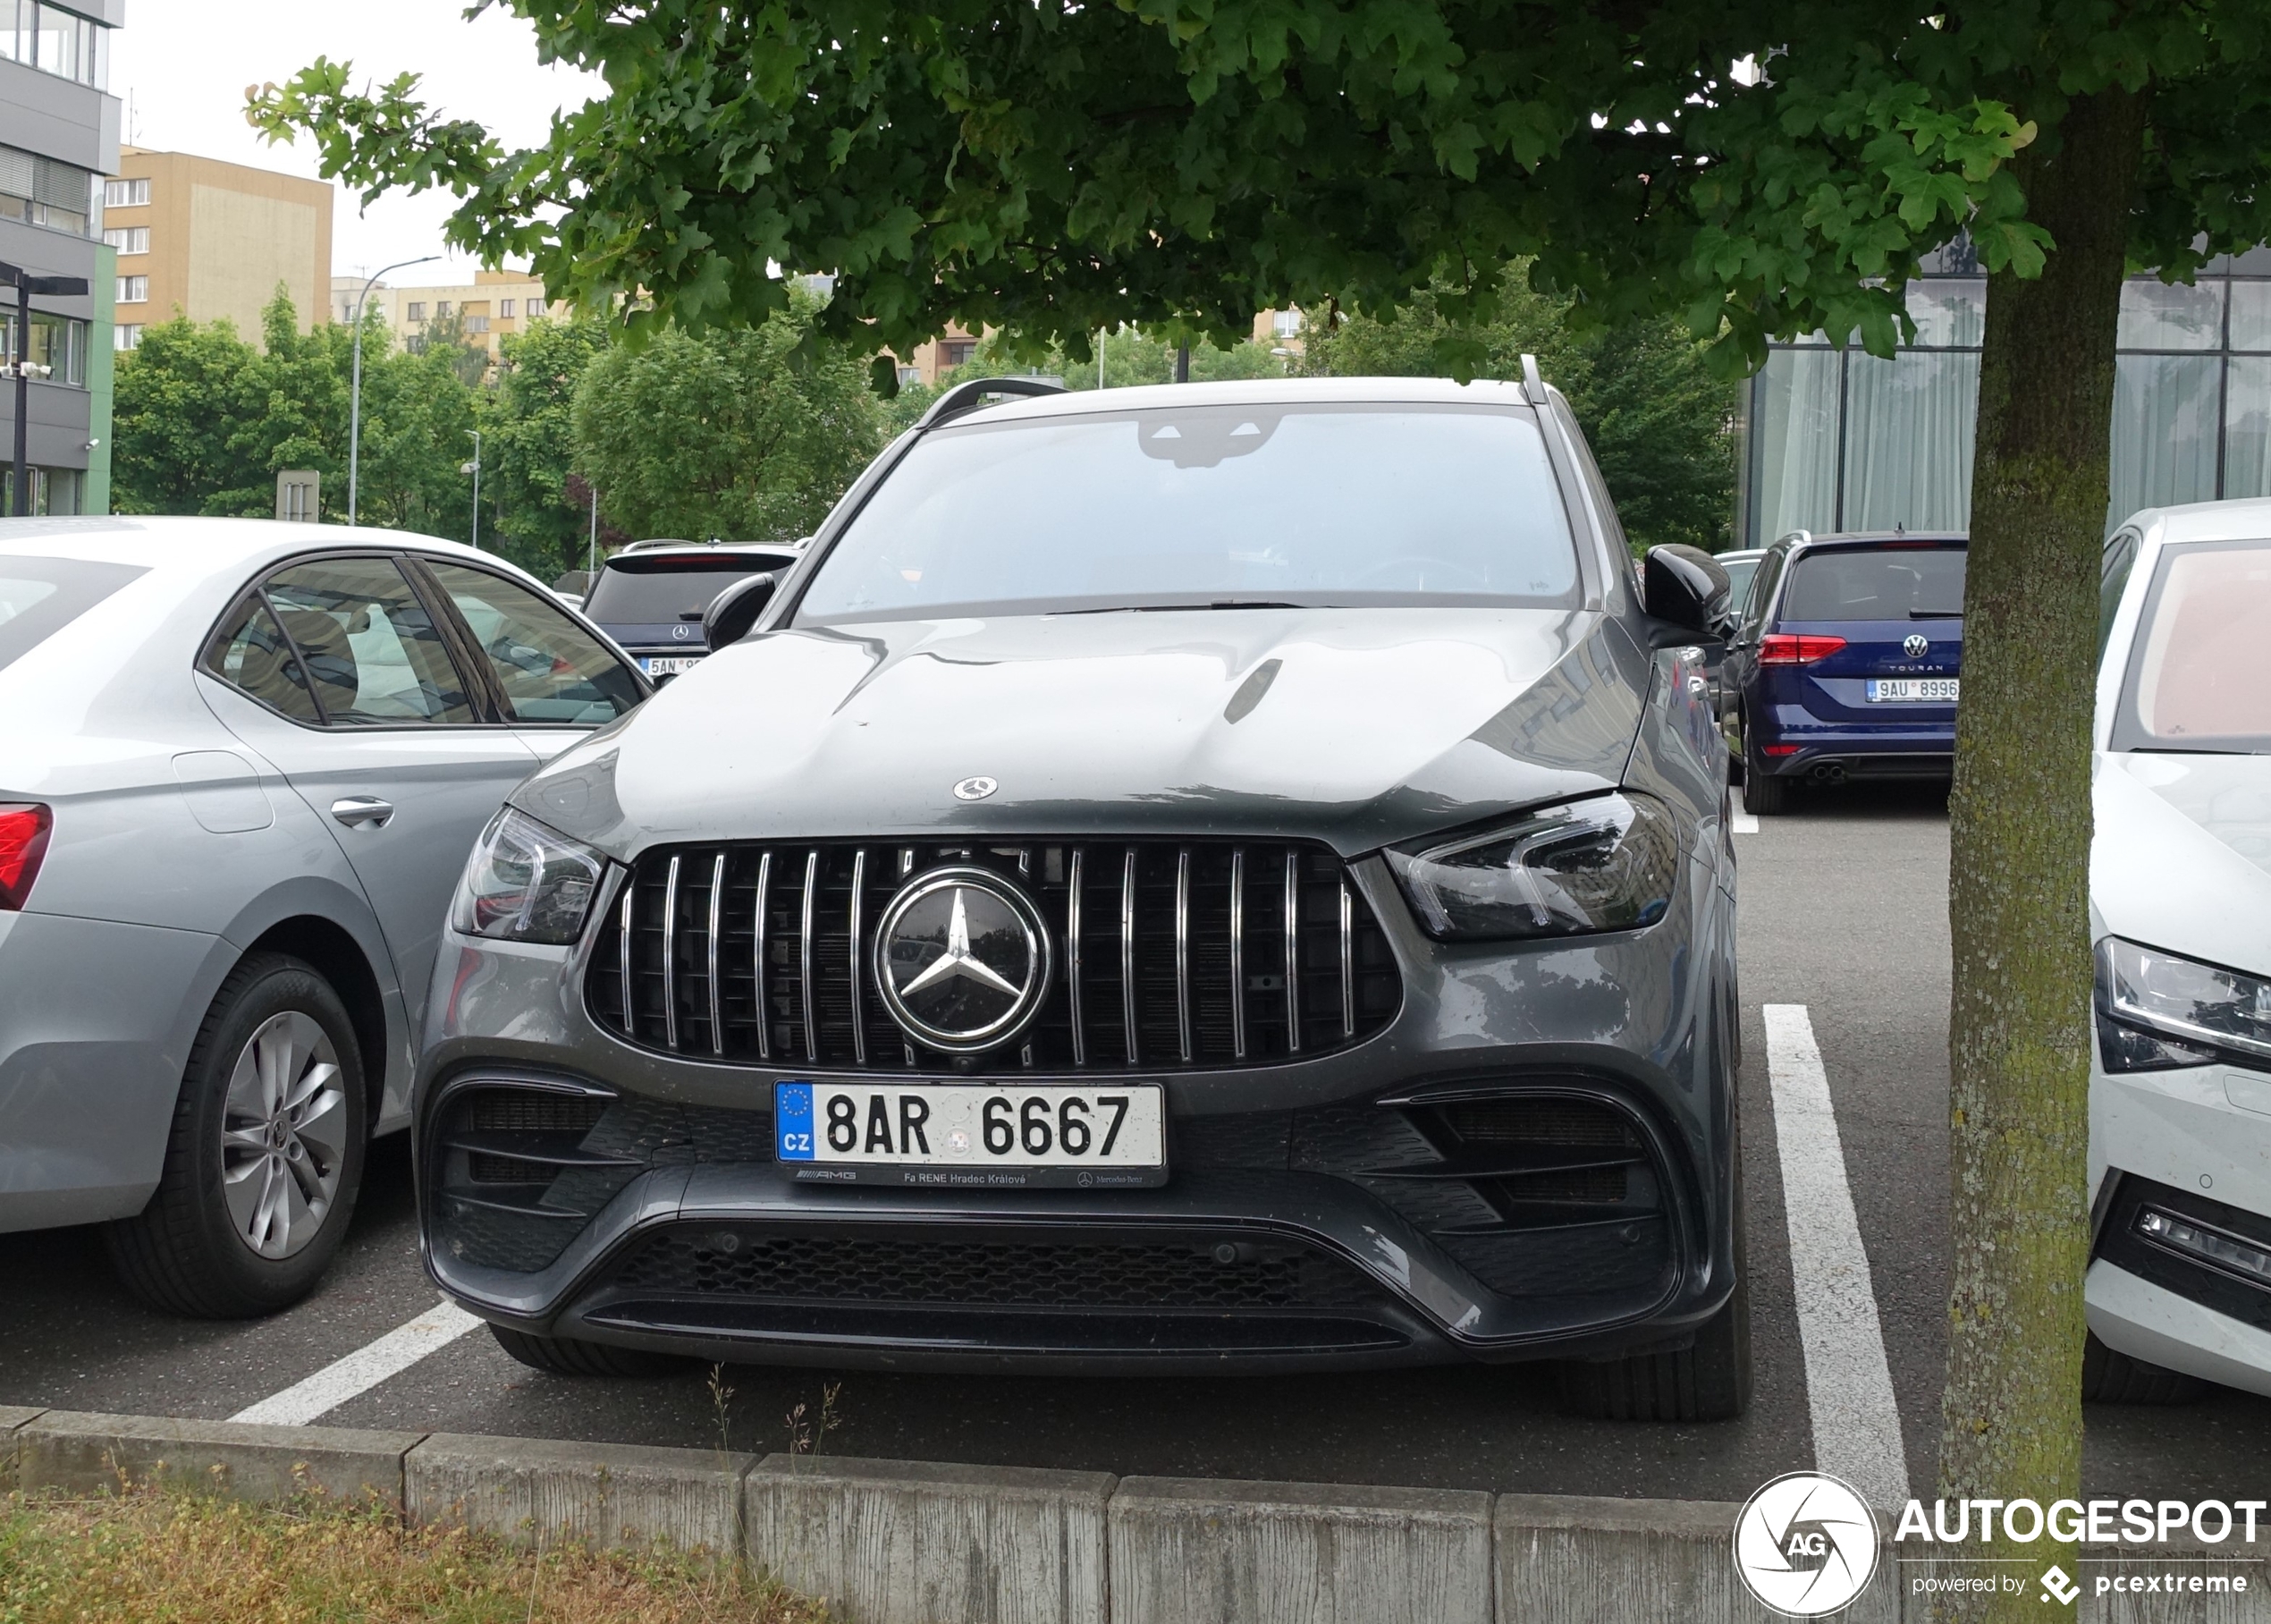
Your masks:
<path fill-rule="evenodd" d="M 2105 543 L 2083 1392 L 2271 1395 L 2271 502 Z"/>

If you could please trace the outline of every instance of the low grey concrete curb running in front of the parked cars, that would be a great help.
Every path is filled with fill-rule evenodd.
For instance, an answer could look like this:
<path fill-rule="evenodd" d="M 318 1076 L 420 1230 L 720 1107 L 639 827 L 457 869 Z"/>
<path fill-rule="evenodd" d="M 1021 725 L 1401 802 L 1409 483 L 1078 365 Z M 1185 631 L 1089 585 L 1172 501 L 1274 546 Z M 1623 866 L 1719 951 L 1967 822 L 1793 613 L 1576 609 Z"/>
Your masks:
<path fill-rule="evenodd" d="M 375 1497 L 518 1542 L 734 1554 L 852 1624 L 1767 1624 L 1735 1579 L 1735 1506 L 1349 1483 L 1113 1479 L 459 1433 L 245 1426 L 0 1406 L 0 1492 L 179 1483 L 241 1499 Z M 1924 1624 L 1921 1563 L 1883 1567 L 1849 1624 Z M 2271 1624 L 2246 1594 L 2094 1594 L 2089 1624 Z M 2228 1560 L 2228 1558 L 2226 1558 Z M 2033 1590 L 2039 1574 L 2028 1572 Z M 2046 1615 L 2048 1617 L 2048 1615 Z"/>

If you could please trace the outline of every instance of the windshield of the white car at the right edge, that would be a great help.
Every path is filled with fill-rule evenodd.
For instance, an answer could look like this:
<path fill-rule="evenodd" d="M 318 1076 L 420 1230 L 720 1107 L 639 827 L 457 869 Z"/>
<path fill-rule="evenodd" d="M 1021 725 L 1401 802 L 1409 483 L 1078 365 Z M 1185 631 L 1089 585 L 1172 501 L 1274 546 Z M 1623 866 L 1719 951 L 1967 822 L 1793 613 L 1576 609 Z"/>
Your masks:
<path fill-rule="evenodd" d="M 2271 541 L 2162 552 L 2130 645 L 2117 750 L 2271 752 Z"/>

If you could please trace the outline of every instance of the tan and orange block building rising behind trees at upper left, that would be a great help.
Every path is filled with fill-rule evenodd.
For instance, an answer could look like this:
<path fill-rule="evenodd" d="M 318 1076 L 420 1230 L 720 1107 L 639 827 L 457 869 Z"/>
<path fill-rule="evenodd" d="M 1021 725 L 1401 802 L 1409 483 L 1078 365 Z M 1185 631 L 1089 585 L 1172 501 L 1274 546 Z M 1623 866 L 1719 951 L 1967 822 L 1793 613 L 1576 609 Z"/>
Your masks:
<path fill-rule="evenodd" d="M 5 16 L 7 0 L 0 0 Z M 325 318 L 332 282 L 332 184 L 191 152 L 125 148 L 102 195 L 102 238 L 118 250 L 118 327 L 132 350 L 148 323 L 229 320 L 261 341 L 261 311 L 291 293 L 300 332 Z"/>

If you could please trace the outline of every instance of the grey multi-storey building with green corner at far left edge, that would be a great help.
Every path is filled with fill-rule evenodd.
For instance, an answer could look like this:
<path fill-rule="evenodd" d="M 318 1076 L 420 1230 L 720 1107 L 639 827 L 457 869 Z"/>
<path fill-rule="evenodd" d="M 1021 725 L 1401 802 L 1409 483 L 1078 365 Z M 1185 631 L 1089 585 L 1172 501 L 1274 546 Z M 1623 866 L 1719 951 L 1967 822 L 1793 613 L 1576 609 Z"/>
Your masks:
<path fill-rule="evenodd" d="M 104 513 L 111 500 L 111 275 L 102 177 L 118 166 L 118 98 L 107 93 L 125 0 L 0 0 L 0 261 L 84 277 L 82 298 L 34 295 L 16 332 L 0 288 L 0 352 L 48 368 L 27 384 L 27 463 L 39 513 Z M 0 511 L 14 511 L 7 452 L 16 388 L 0 386 Z"/>

